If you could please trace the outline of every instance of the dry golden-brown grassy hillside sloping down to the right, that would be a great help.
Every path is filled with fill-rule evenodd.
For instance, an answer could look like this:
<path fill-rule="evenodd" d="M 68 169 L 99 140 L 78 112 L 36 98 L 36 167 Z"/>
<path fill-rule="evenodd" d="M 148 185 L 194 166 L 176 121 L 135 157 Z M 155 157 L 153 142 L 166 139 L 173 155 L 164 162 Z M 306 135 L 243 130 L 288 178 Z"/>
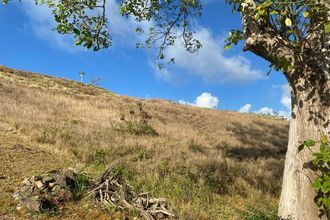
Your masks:
<path fill-rule="evenodd" d="M 287 133 L 284 120 L 0 67 L 0 216 L 102 219 L 108 214 L 87 200 L 30 216 L 11 194 L 23 177 L 67 167 L 97 176 L 119 160 L 137 191 L 166 197 L 179 219 L 272 219 Z"/>

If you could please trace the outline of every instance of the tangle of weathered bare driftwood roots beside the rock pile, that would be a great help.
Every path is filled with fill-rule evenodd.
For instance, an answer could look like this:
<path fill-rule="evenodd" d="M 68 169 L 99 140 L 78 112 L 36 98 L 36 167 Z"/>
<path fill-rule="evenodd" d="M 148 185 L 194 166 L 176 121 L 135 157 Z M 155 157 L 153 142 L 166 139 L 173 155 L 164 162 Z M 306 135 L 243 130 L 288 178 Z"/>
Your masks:
<path fill-rule="evenodd" d="M 119 210 L 137 211 L 146 220 L 174 219 L 175 216 L 167 209 L 165 198 L 150 198 L 149 193 L 133 192 L 121 175 L 113 172 L 115 165 L 101 175 L 88 196 L 94 196 L 96 201 Z"/>

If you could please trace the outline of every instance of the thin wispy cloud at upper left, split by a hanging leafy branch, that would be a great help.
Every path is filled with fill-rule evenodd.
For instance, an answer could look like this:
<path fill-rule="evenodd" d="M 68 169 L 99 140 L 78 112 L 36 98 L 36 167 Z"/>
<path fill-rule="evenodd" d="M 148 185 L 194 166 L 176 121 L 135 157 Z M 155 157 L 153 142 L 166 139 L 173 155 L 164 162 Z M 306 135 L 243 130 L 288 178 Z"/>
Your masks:
<path fill-rule="evenodd" d="M 28 28 L 36 37 L 45 40 L 56 49 L 63 49 L 69 52 L 82 51 L 82 49 L 74 45 L 74 39 L 69 35 L 60 35 L 54 31 L 56 23 L 51 14 L 51 10 L 45 5 L 36 5 L 34 1 L 22 1 L 24 12 L 29 17 Z M 135 47 L 138 41 L 142 40 L 142 36 L 135 32 L 137 26 L 147 29 L 150 22 L 138 23 L 132 18 L 126 18 L 119 13 L 119 4 L 116 0 L 107 1 L 106 14 L 110 22 L 110 34 L 113 37 L 114 45 L 129 45 Z"/>

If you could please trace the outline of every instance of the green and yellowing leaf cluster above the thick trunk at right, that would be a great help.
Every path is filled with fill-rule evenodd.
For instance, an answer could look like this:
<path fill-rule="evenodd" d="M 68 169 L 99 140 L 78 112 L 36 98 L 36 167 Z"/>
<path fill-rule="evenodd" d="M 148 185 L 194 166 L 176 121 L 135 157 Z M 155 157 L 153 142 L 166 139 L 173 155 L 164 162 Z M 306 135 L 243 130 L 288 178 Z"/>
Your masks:
<path fill-rule="evenodd" d="M 303 65 L 309 54 L 318 53 L 315 43 L 320 44 L 318 40 L 330 33 L 330 21 L 327 17 L 330 8 L 326 0 L 226 0 L 226 2 L 232 6 L 233 12 L 254 19 L 261 31 L 285 41 L 297 55 L 296 64 Z M 225 48 L 230 48 L 232 44 L 236 45 L 242 39 L 242 30 L 231 30 Z M 291 62 L 285 58 L 278 59 L 277 62 L 271 63 L 270 67 L 286 72 L 291 68 Z"/>

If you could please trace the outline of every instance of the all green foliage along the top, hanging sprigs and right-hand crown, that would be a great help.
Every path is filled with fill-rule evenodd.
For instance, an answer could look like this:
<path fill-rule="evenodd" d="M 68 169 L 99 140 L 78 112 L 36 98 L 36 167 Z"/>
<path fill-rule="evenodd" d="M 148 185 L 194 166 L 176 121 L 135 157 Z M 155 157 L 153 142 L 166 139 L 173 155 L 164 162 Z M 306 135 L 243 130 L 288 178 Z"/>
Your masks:
<path fill-rule="evenodd" d="M 2 0 L 4 4 L 9 1 Z M 35 3 L 51 9 L 57 22 L 55 30 L 60 34 L 73 35 L 76 45 L 94 51 L 111 46 L 107 0 L 35 0 Z M 298 53 L 305 54 L 306 48 L 312 47 L 309 38 L 313 34 L 330 32 L 326 0 L 226 0 L 226 3 L 232 6 L 233 12 L 254 17 L 265 31 L 289 41 Z M 136 29 L 148 36 L 137 47 L 158 46 L 160 59 L 164 58 L 164 49 L 178 39 L 189 52 L 196 52 L 202 47 L 201 42 L 194 38 L 194 24 L 201 12 L 201 0 L 120 1 L 123 16 L 150 22 L 149 30 Z M 225 48 L 236 45 L 240 40 L 243 40 L 243 31 L 231 30 Z M 289 64 L 285 64 L 285 60 L 283 63 L 272 65 L 277 70 L 287 68 Z"/>

